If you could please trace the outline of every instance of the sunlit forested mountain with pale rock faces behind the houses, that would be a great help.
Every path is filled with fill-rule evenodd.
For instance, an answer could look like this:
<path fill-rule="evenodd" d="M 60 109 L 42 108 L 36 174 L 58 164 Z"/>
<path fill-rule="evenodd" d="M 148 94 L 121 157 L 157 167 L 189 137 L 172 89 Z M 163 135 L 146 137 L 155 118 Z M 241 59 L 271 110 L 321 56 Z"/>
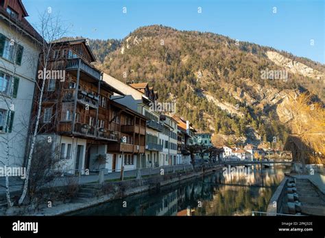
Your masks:
<path fill-rule="evenodd" d="M 177 113 L 212 131 L 219 144 L 281 146 L 291 133 L 288 108 L 296 98 L 325 98 L 323 64 L 218 34 L 152 25 L 114 47 L 98 40 L 90 45 L 101 70 L 124 82 L 149 82 L 158 101 L 176 101 Z"/>

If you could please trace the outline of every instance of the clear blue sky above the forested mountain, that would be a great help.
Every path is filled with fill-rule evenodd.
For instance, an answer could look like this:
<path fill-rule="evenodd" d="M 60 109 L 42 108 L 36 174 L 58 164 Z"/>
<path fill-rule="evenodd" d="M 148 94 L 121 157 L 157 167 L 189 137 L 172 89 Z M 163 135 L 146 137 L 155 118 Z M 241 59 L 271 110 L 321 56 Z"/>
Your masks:
<path fill-rule="evenodd" d="M 138 27 L 209 31 L 325 64 L 325 0 L 23 0 L 32 25 L 51 8 L 69 36 L 122 39 Z M 125 12 L 126 10 L 126 12 Z"/>

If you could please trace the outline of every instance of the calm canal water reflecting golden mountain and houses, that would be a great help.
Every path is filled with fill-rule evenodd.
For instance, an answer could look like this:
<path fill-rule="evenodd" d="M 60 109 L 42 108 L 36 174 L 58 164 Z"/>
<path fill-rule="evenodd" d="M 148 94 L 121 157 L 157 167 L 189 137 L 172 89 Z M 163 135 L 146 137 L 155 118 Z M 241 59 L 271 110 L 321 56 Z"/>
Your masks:
<path fill-rule="evenodd" d="M 221 170 L 154 194 L 136 194 L 69 215 L 252 215 L 267 210 L 285 172 L 289 171 L 284 167 L 261 166 L 228 174 Z"/>

